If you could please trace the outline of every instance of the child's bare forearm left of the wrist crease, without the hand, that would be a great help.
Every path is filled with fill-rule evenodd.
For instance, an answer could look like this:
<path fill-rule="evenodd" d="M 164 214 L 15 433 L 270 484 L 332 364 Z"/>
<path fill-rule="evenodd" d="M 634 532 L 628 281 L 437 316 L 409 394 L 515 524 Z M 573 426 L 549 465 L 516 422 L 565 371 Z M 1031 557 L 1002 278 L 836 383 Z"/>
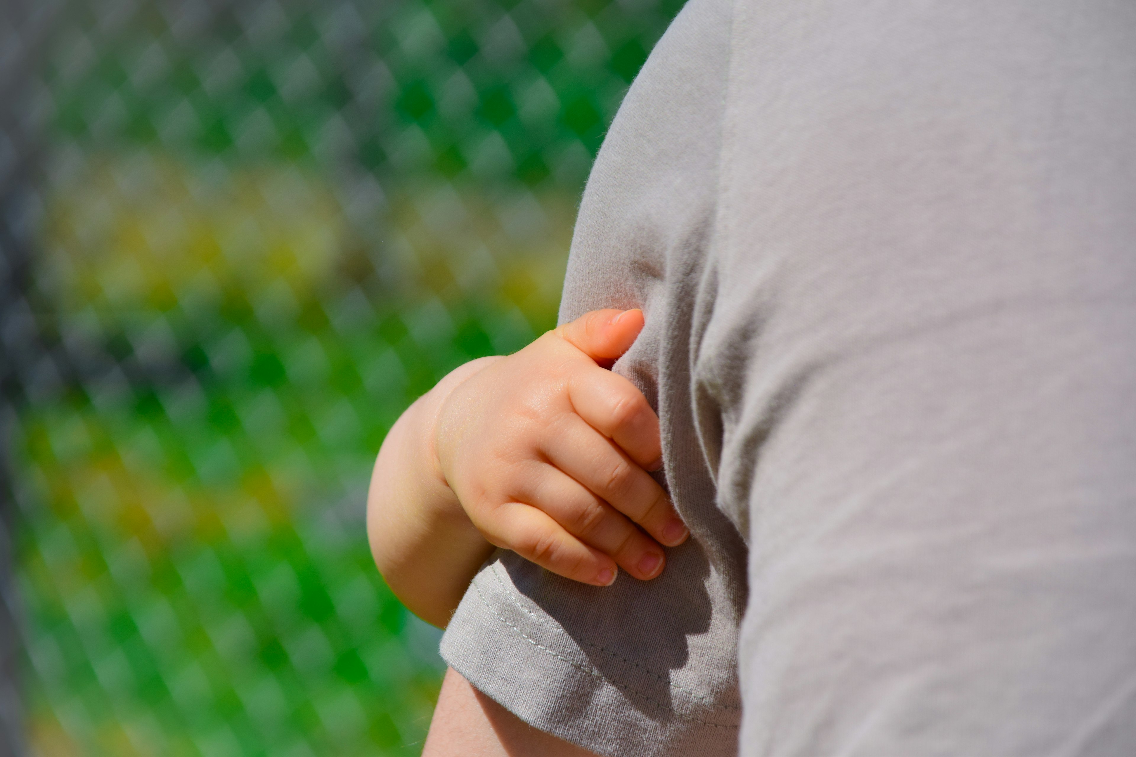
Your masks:
<path fill-rule="evenodd" d="M 436 464 L 437 410 L 492 359 L 467 363 L 411 405 L 387 434 L 367 497 L 371 553 L 391 590 L 423 620 L 444 628 L 493 547 L 474 528 Z"/>

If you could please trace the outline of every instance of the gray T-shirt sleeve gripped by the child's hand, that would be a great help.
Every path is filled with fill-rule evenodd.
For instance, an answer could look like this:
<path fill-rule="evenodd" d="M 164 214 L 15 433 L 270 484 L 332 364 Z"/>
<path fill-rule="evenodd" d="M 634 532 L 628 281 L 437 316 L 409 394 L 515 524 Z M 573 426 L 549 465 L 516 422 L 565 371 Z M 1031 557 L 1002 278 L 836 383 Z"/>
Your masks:
<path fill-rule="evenodd" d="M 541 730 L 601 755 L 737 750 L 745 545 L 716 502 L 691 396 L 698 297 L 712 245 L 729 3 L 693 0 L 632 85 L 584 193 L 561 321 L 642 308 L 613 370 L 658 410 L 663 471 L 691 538 L 652 581 L 607 588 L 499 552 L 442 640 L 446 662 Z"/>

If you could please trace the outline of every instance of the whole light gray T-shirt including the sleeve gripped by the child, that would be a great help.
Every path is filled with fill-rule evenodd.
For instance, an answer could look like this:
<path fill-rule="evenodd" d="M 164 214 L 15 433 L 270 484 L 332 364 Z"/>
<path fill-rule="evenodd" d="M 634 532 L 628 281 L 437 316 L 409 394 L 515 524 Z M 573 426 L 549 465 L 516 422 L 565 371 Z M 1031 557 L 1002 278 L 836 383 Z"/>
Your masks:
<path fill-rule="evenodd" d="M 633 305 L 694 538 L 500 555 L 453 667 L 607 755 L 734 754 L 738 671 L 746 756 L 1136 754 L 1136 5 L 693 0 L 561 319 Z"/>

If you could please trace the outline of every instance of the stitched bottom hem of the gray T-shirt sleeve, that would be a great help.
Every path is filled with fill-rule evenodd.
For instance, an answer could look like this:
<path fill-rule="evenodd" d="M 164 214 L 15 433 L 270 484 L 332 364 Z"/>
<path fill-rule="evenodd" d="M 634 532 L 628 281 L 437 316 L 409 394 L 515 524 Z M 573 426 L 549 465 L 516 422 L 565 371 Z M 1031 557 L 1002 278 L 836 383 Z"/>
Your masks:
<path fill-rule="evenodd" d="M 736 754 L 738 707 L 715 705 L 618 656 L 625 680 L 602 674 L 588 651 L 615 653 L 526 608 L 501 570 L 495 563 L 477 575 L 442 639 L 445 662 L 475 688 L 529 725 L 596 754 L 661 757 L 695 746 L 699 754 Z M 655 691 L 653 679 L 668 683 L 670 700 L 646 695 L 636 679 Z"/>

